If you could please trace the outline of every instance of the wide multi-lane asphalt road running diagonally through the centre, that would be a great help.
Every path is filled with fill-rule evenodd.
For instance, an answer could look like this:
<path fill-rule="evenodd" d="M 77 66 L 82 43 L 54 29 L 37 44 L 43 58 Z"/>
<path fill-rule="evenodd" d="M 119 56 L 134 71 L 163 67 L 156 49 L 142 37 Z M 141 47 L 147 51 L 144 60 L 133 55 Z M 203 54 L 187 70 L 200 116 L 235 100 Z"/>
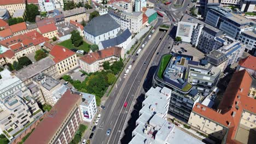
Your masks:
<path fill-rule="evenodd" d="M 162 19 L 159 19 L 155 27 L 158 27 L 161 24 L 161 21 Z M 92 137 L 92 143 L 118 143 L 120 131 L 123 129 L 123 124 L 127 116 L 127 111 L 131 106 L 131 101 L 139 87 L 139 83 L 141 82 L 143 75 L 145 74 L 148 63 L 151 59 L 150 57 L 153 56 L 156 47 L 161 41 L 159 38 L 164 37 L 164 34 L 164 32 L 159 32 L 155 35 L 156 37 L 150 40 L 152 41 L 148 43 L 150 46 L 148 46 L 147 49 L 142 50 L 139 55 L 139 57 L 141 57 L 139 60 L 136 61 L 138 57 L 135 55 L 131 57 L 130 63 L 132 63 L 134 68 L 130 71 L 130 77 L 128 76 L 124 80 L 122 74 L 118 85 L 109 95 L 109 98 L 104 104 L 106 106 L 106 110 L 102 110 L 101 120 L 97 125 L 94 136 Z M 145 40 L 148 41 L 147 38 Z M 123 106 L 125 101 L 128 103 L 127 107 Z M 109 136 L 106 135 L 108 129 L 111 129 Z"/>

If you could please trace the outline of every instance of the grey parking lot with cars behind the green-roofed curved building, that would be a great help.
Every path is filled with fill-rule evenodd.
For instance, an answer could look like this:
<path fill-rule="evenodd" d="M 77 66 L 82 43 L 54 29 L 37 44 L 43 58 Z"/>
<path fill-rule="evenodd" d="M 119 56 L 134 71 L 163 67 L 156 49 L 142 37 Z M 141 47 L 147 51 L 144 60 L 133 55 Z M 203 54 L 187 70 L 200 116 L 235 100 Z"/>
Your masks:
<path fill-rule="evenodd" d="M 180 54 L 184 54 L 184 55 L 196 56 L 196 57 L 199 57 L 200 59 L 205 58 L 204 53 L 197 50 L 195 47 L 192 47 L 192 45 L 188 44 L 188 43 L 173 45 L 172 51 L 175 53 L 180 53 Z"/>

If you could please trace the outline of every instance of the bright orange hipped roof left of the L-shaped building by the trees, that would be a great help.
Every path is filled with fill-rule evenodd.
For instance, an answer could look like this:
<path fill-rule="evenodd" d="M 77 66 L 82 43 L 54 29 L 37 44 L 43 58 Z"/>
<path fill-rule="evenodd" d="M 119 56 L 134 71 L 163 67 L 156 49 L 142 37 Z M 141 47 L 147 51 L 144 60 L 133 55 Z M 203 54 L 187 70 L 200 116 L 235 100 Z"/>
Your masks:
<path fill-rule="evenodd" d="M 50 55 L 54 57 L 53 61 L 59 63 L 64 59 L 75 55 L 75 52 L 67 49 L 66 47 L 55 45 L 50 51 Z"/>

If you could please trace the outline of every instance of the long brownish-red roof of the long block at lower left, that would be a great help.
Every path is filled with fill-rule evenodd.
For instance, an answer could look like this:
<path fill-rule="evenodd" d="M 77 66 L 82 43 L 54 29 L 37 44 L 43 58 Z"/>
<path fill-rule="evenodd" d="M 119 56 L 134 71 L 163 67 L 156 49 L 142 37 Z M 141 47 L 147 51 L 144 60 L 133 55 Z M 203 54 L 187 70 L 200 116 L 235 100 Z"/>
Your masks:
<path fill-rule="evenodd" d="M 71 91 L 67 90 L 24 143 L 50 143 L 56 131 L 60 129 L 63 121 L 65 121 L 73 107 L 78 104 L 81 99 L 82 97 L 80 95 L 72 94 Z"/>

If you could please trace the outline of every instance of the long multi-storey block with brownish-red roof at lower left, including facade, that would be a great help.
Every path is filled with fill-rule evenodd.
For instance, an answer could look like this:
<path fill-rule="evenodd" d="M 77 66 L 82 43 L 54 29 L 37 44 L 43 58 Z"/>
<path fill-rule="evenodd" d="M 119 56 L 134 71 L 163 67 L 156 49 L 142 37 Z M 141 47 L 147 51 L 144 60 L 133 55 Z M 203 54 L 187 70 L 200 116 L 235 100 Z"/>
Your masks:
<path fill-rule="evenodd" d="M 46 114 L 25 141 L 29 143 L 69 143 L 82 122 L 79 104 L 82 98 L 67 91 Z M 54 123 L 54 124 L 53 124 Z M 45 133 L 47 131 L 47 133 Z"/>

